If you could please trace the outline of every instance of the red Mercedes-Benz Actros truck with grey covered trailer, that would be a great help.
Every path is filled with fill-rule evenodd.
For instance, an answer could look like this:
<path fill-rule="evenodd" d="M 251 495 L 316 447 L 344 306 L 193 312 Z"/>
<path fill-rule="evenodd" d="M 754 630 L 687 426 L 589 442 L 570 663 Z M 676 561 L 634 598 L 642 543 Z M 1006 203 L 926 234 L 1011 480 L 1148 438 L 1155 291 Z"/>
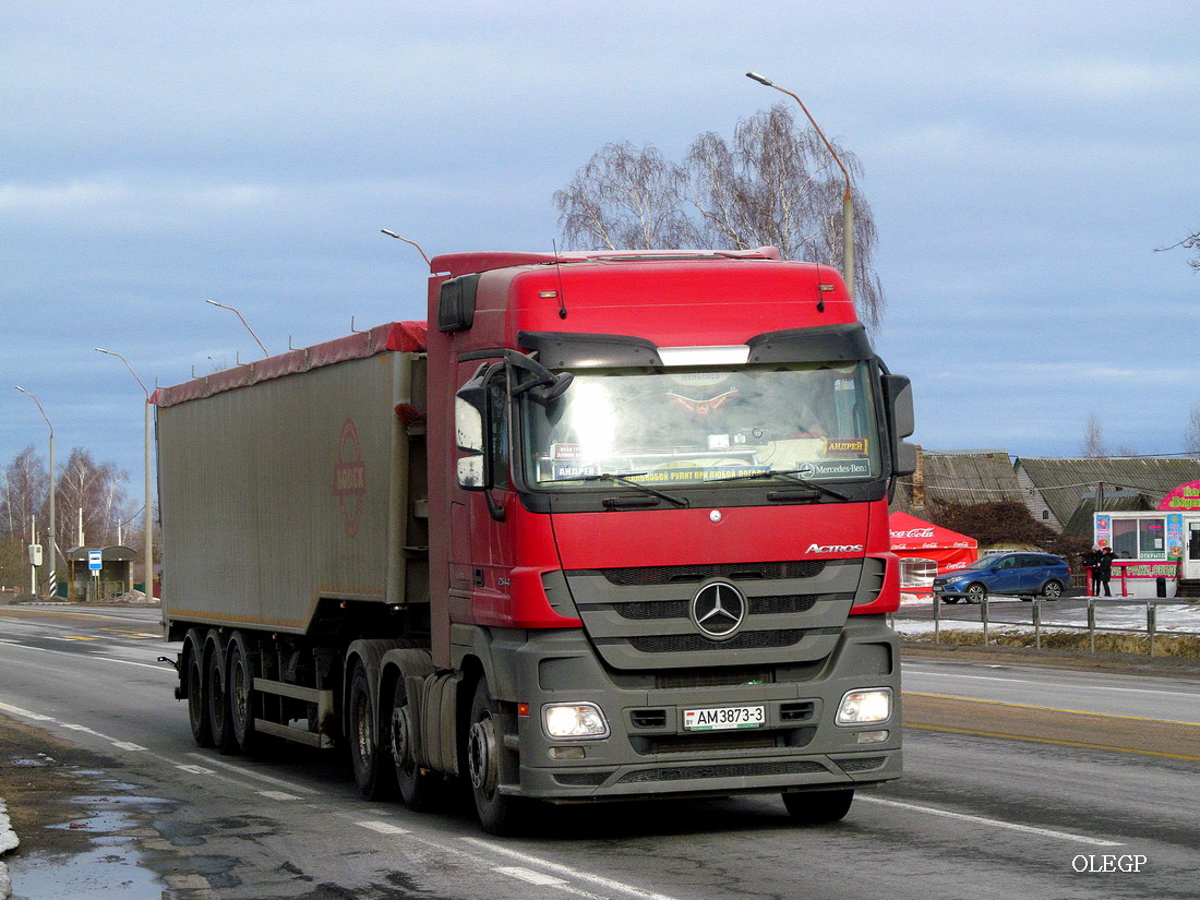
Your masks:
<path fill-rule="evenodd" d="M 900 774 L 908 380 L 836 271 L 455 253 L 395 323 L 155 396 L 196 740 L 348 746 L 362 794 L 775 792 Z"/>

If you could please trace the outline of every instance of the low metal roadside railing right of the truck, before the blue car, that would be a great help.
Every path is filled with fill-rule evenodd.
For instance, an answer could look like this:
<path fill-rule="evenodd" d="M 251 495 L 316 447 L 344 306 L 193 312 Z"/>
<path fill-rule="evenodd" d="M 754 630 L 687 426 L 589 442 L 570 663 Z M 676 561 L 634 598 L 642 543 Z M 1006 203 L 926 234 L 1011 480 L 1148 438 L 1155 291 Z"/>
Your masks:
<path fill-rule="evenodd" d="M 1102 600 L 1097 604 L 1094 596 L 1086 598 L 1087 601 L 1087 619 L 1085 624 L 1078 622 L 1055 622 L 1054 613 L 1051 612 L 1051 619 L 1046 619 L 1045 606 L 1048 602 L 1054 602 L 1056 607 L 1060 606 L 1060 601 L 1046 601 L 1039 598 L 1033 598 L 1030 602 L 1016 604 L 1008 602 L 997 604 L 998 608 L 1004 611 L 1004 616 L 996 618 L 992 612 L 992 604 L 989 598 L 984 596 L 978 605 L 968 605 L 964 608 L 955 607 L 954 613 L 950 616 L 944 616 L 942 604 L 936 599 L 932 602 L 932 622 L 934 622 L 934 643 L 941 643 L 942 638 L 942 623 L 967 623 L 967 624 L 979 624 L 983 628 L 983 643 L 989 646 L 991 642 L 990 631 L 994 628 L 1008 629 L 1032 629 L 1034 636 L 1034 646 L 1042 649 L 1042 636 L 1045 631 L 1087 631 L 1088 635 L 1088 648 L 1092 653 L 1096 653 L 1096 635 L 1097 634 L 1122 634 L 1122 635 L 1135 635 L 1135 636 L 1147 636 L 1150 643 L 1150 655 L 1154 655 L 1154 641 L 1158 637 L 1200 637 L 1200 630 L 1184 631 L 1176 628 L 1169 630 L 1160 630 L 1158 624 L 1158 613 L 1162 608 L 1172 610 L 1188 610 L 1196 612 L 1196 622 L 1200 623 L 1200 605 L 1195 602 L 1177 602 L 1169 600 L 1146 600 L 1145 602 L 1130 604 L 1128 601 Z M 1129 610 L 1130 606 L 1140 607 L 1145 611 L 1145 626 L 1140 623 L 1138 626 L 1132 626 L 1130 624 L 1103 624 L 1098 619 L 1103 617 L 1104 612 L 1110 612 L 1115 610 Z M 926 610 L 924 605 L 919 607 L 908 607 L 910 610 Z M 1078 608 L 1078 607 L 1076 607 Z M 1019 610 L 1021 612 L 1028 611 L 1028 617 L 1014 616 L 1013 611 Z M 1097 614 L 1099 610 L 1100 616 Z M 978 611 L 978 618 L 973 614 Z M 968 613 L 962 616 L 961 613 Z M 905 607 L 901 607 L 899 612 L 893 613 L 890 617 L 893 626 L 896 625 L 898 619 L 904 619 Z M 908 620 L 922 620 L 925 622 L 928 618 L 925 616 L 907 617 Z M 1061 618 L 1061 617 L 1060 617 Z M 1198 624 L 1200 628 L 1200 624 Z M 901 628 L 902 630 L 902 628 Z"/>

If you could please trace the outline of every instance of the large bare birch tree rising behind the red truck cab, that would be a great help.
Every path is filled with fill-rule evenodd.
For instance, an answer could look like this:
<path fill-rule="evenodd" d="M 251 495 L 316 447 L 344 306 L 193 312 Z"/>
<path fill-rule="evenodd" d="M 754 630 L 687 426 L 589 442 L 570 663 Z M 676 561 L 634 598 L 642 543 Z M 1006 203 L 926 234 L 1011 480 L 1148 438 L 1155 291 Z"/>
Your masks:
<path fill-rule="evenodd" d="M 835 144 L 852 176 L 862 164 Z M 683 164 L 654 146 L 607 144 L 554 193 L 566 246 L 610 250 L 779 247 L 785 259 L 840 265 L 845 180 L 820 137 L 779 104 L 739 121 L 732 143 L 709 132 Z M 852 180 L 856 301 L 872 328 L 883 307 L 870 206 Z"/>

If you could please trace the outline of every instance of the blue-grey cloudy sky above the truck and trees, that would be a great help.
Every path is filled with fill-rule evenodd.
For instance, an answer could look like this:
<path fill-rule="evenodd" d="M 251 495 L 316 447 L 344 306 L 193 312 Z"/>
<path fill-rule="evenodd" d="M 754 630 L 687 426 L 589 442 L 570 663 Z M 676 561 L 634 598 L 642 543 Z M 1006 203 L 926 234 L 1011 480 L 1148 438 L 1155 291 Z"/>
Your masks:
<path fill-rule="evenodd" d="M 140 497 L 151 385 L 424 318 L 430 256 L 550 250 L 601 145 L 799 94 L 858 155 L 876 346 L 930 449 L 1178 452 L 1200 402 L 1200 4 L 0 4 L 0 467 Z"/>

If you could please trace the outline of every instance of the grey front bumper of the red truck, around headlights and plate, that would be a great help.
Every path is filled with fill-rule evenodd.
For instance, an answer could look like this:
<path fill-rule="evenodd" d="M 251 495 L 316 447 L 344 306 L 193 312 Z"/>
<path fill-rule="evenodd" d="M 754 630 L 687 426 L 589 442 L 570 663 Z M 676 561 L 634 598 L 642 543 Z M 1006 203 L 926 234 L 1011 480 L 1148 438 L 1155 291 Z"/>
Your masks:
<path fill-rule="evenodd" d="M 581 631 L 524 635 L 511 650 L 520 673 L 512 700 L 530 714 L 516 716 L 518 784 L 505 792 L 570 803 L 868 786 L 901 774 L 900 658 L 882 616 L 850 617 L 833 652 L 816 662 L 682 673 L 612 671 Z M 842 696 L 864 688 L 892 690 L 890 718 L 836 725 Z M 594 703 L 608 736 L 548 738 L 540 709 L 554 702 Z M 763 724 L 683 726 L 684 709 L 730 704 L 763 706 Z"/>

